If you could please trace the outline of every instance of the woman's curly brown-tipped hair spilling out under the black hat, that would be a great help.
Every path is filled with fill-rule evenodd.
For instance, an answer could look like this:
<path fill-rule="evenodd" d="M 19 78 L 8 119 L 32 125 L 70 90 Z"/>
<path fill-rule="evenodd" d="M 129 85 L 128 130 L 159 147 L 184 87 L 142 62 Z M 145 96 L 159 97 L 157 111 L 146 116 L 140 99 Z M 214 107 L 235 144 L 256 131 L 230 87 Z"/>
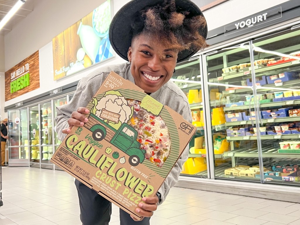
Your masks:
<path fill-rule="evenodd" d="M 179 52 L 208 47 L 205 38 L 199 34 L 199 29 L 206 26 L 205 18 L 188 14 L 187 11 L 176 11 L 175 0 L 164 0 L 162 4 L 147 7 L 135 15 L 131 25 L 132 38 L 143 33 Z"/>

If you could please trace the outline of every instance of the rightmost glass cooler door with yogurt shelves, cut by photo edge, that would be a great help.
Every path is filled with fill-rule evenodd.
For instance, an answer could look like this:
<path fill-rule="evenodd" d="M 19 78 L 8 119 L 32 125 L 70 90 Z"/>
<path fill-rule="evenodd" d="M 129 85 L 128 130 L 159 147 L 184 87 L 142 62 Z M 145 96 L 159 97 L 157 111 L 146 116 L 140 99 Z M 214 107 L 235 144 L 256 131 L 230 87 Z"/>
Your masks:
<path fill-rule="evenodd" d="M 300 29 L 253 41 L 265 183 L 300 185 Z"/>

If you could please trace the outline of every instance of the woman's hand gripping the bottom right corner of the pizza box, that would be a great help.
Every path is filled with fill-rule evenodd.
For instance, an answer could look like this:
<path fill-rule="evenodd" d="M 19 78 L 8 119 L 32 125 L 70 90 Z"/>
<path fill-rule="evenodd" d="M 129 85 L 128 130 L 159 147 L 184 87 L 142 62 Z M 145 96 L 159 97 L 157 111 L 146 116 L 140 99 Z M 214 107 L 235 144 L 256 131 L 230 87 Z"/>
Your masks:
<path fill-rule="evenodd" d="M 157 209 L 158 196 L 143 197 L 142 200 L 144 202 L 140 202 L 139 208 L 136 208 L 135 211 L 143 217 L 152 217 L 153 212 Z M 139 221 L 139 220 L 135 219 L 133 216 L 131 216 L 131 218 L 134 221 Z"/>

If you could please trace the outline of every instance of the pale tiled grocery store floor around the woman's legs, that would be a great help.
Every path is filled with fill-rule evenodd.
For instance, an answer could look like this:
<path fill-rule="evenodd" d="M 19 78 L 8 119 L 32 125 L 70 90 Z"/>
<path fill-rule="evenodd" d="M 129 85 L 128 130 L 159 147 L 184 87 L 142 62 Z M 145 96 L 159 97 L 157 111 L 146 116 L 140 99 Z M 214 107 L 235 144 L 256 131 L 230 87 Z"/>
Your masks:
<path fill-rule="evenodd" d="M 58 170 L 2 168 L 0 225 L 81 225 L 74 179 Z M 300 204 L 173 187 L 152 225 L 299 225 Z M 119 222 L 113 205 L 110 225 Z"/>

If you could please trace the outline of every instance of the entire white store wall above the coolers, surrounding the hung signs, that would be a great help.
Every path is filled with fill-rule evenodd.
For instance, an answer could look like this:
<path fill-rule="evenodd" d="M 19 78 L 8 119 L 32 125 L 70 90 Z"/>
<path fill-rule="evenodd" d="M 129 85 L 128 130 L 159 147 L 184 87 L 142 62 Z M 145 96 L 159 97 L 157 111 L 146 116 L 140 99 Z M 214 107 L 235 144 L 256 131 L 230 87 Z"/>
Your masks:
<path fill-rule="evenodd" d="M 37 2 L 33 12 L 4 37 L 5 71 L 39 50 L 40 88 L 10 101 L 6 101 L 5 106 L 77 81 L 101 66 L 124 62 L 122 58 L 116 55 L 116 57 L 90 67 L 83 72 L 65 77 L 58 81 L 53 81 L 52 38 L 90 13 L 94 8 L 102 4 L 104 0 L 88 1 L 87 4 L 83 4 L 81 0 L 51 0 L 51 2 L 40 0 L 28 1 Z M 114 13 L 128 1 L 129 0 L 113 0 Z M 195 2 L 196 1 L 197 0 L 195 0 Z M 286 0 L 231 0 L 210 10 L 206 10 L 204 15 L 208 23 L 208 29 L 211 30 L 284 1 Z"/>

